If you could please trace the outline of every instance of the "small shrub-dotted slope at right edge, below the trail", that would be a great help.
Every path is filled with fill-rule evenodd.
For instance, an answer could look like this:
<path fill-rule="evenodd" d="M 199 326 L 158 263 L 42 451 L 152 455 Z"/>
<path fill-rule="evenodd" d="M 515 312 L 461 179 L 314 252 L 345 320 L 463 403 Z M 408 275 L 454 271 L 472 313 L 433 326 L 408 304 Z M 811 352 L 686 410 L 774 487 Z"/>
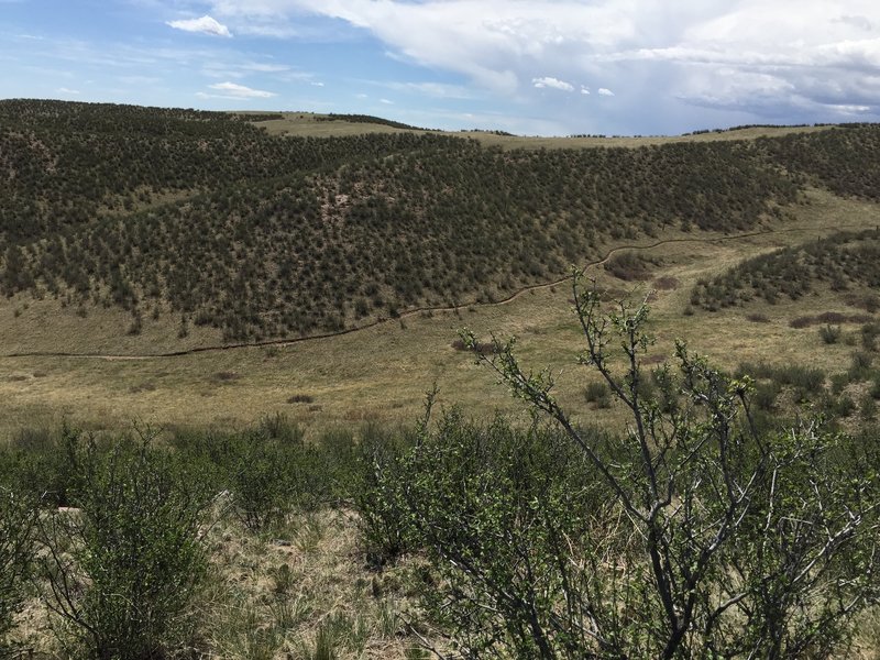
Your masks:
<path fill-rule="evenodd" d="M 700 282 L 691 304 L 707 310 L 761 298 L 798 300 L 817 286 L 834 292 L 880 288 L 880 231 L 838 232 L 747 260 L 711 280 Z M 875 300 L 875 302 L 871 302 Z M 853 300 L 876 311 L 875 297 Z"/>

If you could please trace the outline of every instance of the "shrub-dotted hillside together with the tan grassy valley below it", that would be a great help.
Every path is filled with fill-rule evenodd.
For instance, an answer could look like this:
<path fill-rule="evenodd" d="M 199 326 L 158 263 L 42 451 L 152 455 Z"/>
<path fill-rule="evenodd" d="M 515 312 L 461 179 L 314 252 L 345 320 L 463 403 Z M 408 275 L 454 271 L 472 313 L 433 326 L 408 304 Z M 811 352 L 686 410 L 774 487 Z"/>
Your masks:
<path fill-rule="evenodd" d="M 815 331 L 807 341 L 789 323 L 866 314 L 847 300 L 867 283 L 714 314 L 692 289 L 744 258 L 873 229 L 877 127 L 503 151 L 352 118 L 316 123 L 392 132 L 274 138 L 257 128 L 279 121 L 272 114 L 48 101 L 6 101 L 0 113 L 12 145 L 0 152 L 10 182 L 0 189 L 0 343 L 21 354 L 0 362 L 10 428 L 62 415 L 97 426 L 248 424 L 275 411 L 309 428 L 411 420 L 432 380 L 465 404 L 510 409 L 452 346 L 457 330 L 520 334 L 529 359 L 575 384 L 565 286 L 524 287 L 606 255 L 595 272 L 613 295 L 657 289 L 658 359 L 684 337 L 729 367 L 809 356 L 833 370 L 848 349 L 817 356 Z M 697 316 L 682 316 L 689 306 Z M 771 322 L 744 334 L 747 316 Z M 329 337 L 78 356 L 316 334 Z"/>

